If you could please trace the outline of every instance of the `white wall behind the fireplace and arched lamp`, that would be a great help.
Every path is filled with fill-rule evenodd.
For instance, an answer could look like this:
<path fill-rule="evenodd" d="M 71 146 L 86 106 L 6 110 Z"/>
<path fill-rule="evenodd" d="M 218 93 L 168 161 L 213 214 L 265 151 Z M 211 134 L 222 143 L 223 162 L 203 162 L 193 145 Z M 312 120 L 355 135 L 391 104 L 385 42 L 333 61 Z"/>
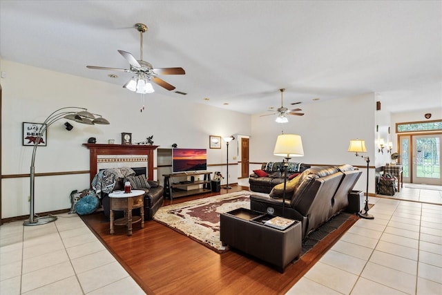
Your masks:
<path fill-rule="evenodd" d="M 111 124 L 89 126 L 69 121 L 74 129 L 66 131 L 68 120 L 55 122 L 48 129 L 48 146 L 37 149 L 36 173 L 88 170 L 89 150 L 82 146 L 88 137 L 96 137 L 102 144 L 115 139 L 119 144 L 122 132 L 133 133 L 133 142 L 153 135 L 154 144 L 164 148 L 173 143 L 182 148 L 206 148 L 208 164 L 219 164 L 226 162 L 225 144 L 222 149 L 209 149 L 209 135 L 251 133 L 250 115 L 190 104 L 186 96 L 167 97 L 162 89 L 145 96 L 146 110 L 140 113 L 140 95 L 122 86 L 4 59 L 0 70 L 6 73 L 1 79 L 2 175 L 29 173 L 32 146 L 21 145 L 22 122 L 41 123 L 52 111 L 66 106 L 88 108 Z M 236 169 L 229 173 L 236 182 Z M 88 174 L 37 177 L 35 212 L 70 208 L 70 191 L 89 186 Z M 29 178 L 2 179 L 2 218 L 28 214 L 29 193 Z"/>

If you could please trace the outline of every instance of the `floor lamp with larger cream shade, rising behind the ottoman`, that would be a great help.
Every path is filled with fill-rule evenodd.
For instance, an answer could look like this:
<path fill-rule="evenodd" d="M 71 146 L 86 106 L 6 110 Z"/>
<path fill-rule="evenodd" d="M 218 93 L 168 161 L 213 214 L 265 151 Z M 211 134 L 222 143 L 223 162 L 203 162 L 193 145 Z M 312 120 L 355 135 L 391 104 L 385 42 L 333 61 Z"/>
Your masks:
<path fill-rule="evenodd" d="M 287 184 L 287 167 L 291 157 L 302 157 L 304 149 L 302 149 L 302 140 L 297 134 L 280 134 L 276 139 L 273 155 L 284 157 L 284 190 L 282 191 L 282 217 L 284 217 L 285 209 L 285 187 Z"/>

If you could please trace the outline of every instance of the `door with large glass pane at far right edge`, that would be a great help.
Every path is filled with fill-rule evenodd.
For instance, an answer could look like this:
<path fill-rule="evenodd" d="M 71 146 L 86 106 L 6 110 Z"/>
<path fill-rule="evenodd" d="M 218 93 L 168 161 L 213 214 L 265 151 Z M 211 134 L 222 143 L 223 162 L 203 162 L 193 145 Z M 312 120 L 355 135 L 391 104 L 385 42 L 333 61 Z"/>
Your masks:
<path fill-rule="evenodd" d="M 441 178 L 442 135 L 412 136 L 412 182 L 442 185 Z"/>

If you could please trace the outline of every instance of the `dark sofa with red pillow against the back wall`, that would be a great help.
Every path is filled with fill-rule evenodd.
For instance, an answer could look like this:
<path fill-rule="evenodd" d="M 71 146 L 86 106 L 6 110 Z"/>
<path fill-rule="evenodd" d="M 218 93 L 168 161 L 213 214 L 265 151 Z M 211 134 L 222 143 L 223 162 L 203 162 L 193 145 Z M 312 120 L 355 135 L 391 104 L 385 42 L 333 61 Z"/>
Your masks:
<path fill-rule="evenodd" d="M 287 180 L 291 180 L 309 168 L 310 165 L 308 164 L 289 162 Z M 283 162 L 262 163 L 261 169 L 253 170 L 253 173 L 249 175 L 250 190 L 257 193 L 270 193 L 274 186 L 284 182 L 283 171 Z"/>

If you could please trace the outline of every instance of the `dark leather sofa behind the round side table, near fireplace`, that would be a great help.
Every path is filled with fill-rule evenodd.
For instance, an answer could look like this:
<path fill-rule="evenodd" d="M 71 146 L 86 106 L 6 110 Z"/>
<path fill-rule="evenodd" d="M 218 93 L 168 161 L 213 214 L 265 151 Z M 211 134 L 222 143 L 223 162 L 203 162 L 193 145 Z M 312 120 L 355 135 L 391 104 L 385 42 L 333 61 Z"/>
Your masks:
<path fill-rule="evenodd" d="M 158 209 L 162 207 L 164 203 L 164 188 L 157 182 L 152 180 L 146 180 L 146 175 L 134 175 L 127 176 L 126 178 L 117 178 L 115 180 L 115 186 L 112 191 L 123 191 L 124 182 L 131 180 L 132 189 L 144 190 L 144 220 L 151 220 Z M 134 181 L 135 180 L 135 181 Z M 110 199 L 108 193 L 101 192 L 102 206 L 104 216 L 110 217 Z M 133 209 L 134 215 L 140 215 L 140 209 Z M 115 211 L 115 218 L 124 217 L 123 211 Z"/>

